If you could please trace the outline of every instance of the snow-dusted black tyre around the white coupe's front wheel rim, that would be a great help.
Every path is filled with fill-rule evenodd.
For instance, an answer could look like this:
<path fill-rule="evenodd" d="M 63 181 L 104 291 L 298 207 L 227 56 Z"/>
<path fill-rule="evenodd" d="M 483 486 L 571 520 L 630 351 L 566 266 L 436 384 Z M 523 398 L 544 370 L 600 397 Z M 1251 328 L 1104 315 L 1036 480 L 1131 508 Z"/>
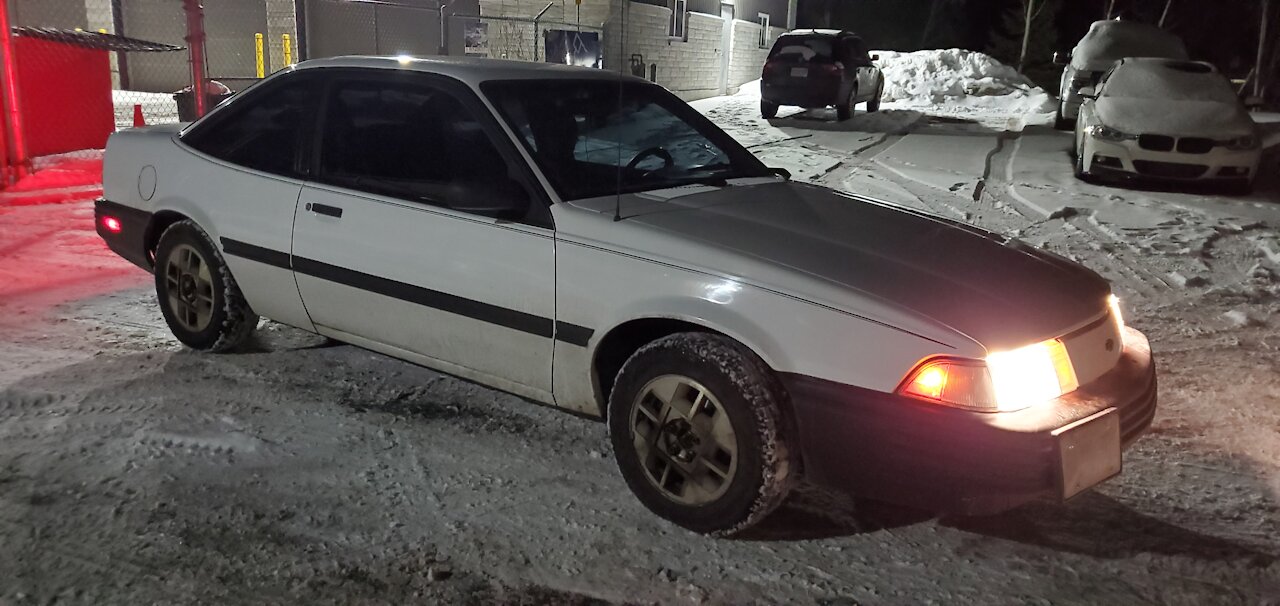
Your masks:
<path fill-rule="evenodd" d="M 645 386 L 678 374 L 714 395 L 737 442 L 736 471 L 714 501 L 685 505 L 664 495 L 646 475 L 637 452 L 632 414 Z M 786 389 L 754 352 L 712 333 L 677 333 L 636 351 L 618 372 L 609 396 L 609 436 L 618 469 L 641 504 L 698 533 L 732 536 L 768 516 L 799 475 L 795 430 Z"/>

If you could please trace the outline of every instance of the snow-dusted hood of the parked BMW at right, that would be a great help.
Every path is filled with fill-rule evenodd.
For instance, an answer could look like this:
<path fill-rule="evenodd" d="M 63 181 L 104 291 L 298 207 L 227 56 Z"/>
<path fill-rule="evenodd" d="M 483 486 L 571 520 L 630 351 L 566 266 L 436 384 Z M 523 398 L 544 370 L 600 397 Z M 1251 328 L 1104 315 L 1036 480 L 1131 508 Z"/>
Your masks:
<path fill-rule="evenodd" d="M 1225 140 L 1256 129 L 1249 114 L 1235 102 L 1101 97 L 1096 108 L 1103 124 L 1130 135 Z"/>

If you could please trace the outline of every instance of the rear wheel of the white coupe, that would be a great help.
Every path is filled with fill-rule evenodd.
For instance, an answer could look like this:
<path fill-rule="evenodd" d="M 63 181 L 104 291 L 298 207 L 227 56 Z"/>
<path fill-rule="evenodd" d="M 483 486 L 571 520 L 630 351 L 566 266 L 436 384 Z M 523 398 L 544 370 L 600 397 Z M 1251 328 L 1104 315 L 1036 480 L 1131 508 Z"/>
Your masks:
<path fill-rule="evenodd" d="M 156 297 L 169 331 L 200 351 L 229 351 L 257 328 L 257 314 L 209 234 L 191 220 L 169 225 L 156 246 Z"/>

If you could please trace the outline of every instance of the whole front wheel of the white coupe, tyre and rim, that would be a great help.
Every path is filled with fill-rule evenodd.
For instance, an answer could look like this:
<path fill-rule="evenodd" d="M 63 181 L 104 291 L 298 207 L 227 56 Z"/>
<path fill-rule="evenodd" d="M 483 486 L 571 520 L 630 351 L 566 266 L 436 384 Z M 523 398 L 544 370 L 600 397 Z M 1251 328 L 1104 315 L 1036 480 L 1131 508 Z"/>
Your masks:
<path fill-rule="evenodd" d="M 631 492 L 699 533 L 763 520 L 795 482 L 786 392 L 741 345 L 680 333 L 640 348 L 609 396 L 609 437 Z"/>

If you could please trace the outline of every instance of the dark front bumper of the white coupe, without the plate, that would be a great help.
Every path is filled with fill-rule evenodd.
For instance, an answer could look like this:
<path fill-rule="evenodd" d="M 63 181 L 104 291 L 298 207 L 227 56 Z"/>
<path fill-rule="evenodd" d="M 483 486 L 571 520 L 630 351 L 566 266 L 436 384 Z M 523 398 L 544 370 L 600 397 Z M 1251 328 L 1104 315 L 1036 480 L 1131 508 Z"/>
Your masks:
<path fill-rule="evenodd" d="M 1043 497 L 1068 498 L 1080 487 L 1065 486 L 1071 479 L 1064 477 L 1055 433 L 1096 416 L 1117 418 L 1120 445 L 1112 447 L 1123 448 L 1156 414 L 1151 345 L 1130 328 L 1124 341 L 1124 355 L 1107 374 L 1014 413 L 972 413 L 783 375 L 805 474 L 859 496 L 963 515 L 993 514 Z M 1108 409 L 1115 411 L 1103 414 Z"/>

